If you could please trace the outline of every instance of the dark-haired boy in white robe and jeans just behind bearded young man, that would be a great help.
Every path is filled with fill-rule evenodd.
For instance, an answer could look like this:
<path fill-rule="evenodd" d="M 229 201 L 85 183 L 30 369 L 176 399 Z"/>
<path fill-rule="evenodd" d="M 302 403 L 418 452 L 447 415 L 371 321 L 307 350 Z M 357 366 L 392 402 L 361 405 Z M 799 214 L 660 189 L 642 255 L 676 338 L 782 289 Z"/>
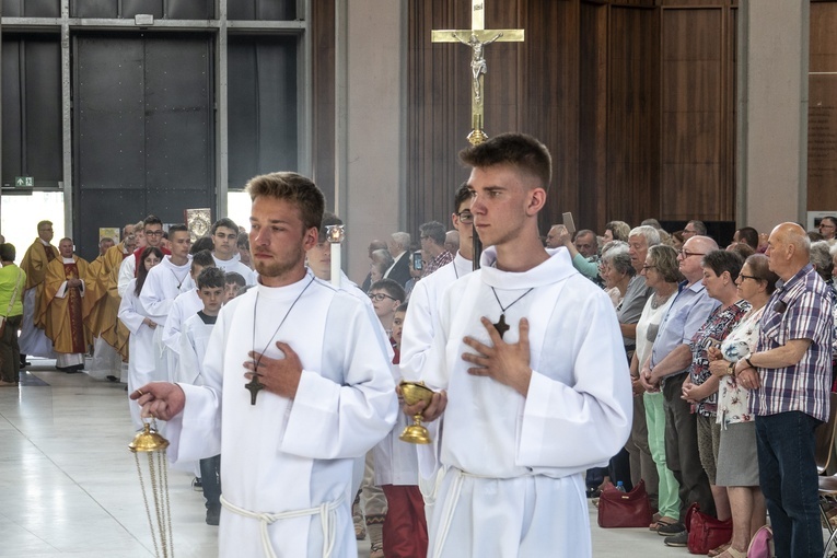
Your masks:
<path fill-rule="evenodd" d="M 195 254 L 195 259 L 198 259 Z M 206 267 L 196 278 L 202 309 L 183 323 L 178 335 L 177 374 L 175 382 L 204 385 L 204 357 L 209 338 L 224 302 L 224 272 L 214 265 Z M 218 525 L 221 518 L 221 456 L 200 460 L 200 480 L 207 505 L 207 525 Z"/>

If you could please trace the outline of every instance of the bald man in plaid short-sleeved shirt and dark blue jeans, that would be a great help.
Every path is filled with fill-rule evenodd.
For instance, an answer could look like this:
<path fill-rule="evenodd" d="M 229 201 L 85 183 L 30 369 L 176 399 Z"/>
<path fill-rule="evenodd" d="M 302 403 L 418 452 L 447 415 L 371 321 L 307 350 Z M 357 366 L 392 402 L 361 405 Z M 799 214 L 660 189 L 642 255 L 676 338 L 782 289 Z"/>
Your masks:
<path fill-rule="evenodd" d="M 776 556 L 823 555 L 814 430 L 828 420 L 834 321 L 828 286 L 810 264 L 811 242 L 795 223 L 767 240 L 779 276 L 765 306 L 756 351 L 735 365 L 753 390 L 759 484 L 774 528 Z"/>

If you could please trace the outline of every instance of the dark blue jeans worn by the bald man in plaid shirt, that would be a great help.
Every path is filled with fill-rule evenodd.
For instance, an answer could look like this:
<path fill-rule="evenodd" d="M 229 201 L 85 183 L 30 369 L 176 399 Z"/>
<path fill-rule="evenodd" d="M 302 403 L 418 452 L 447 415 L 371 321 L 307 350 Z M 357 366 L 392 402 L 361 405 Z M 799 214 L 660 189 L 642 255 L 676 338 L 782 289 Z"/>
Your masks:
<path fill-rule="evenodd" d="M 801 411 L 756 417 L 758 477 L 777 558 L 823 556 L 814 461 L 814 429 L 819 423 Z"/>

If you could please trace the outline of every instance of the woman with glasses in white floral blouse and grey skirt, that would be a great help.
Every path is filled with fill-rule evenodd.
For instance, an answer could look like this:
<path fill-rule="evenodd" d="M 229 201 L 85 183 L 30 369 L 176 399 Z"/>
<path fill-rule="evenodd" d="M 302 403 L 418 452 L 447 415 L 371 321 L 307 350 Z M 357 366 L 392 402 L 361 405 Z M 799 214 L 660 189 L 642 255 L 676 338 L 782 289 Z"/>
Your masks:
<path fill-rule="evenodd" d="M 739 297 L 751 309 L 735 329 L 726 336 L 720 349 L 712 348 L 709 370 L 720 380 L 718 391 L 718 423 L 721 443 L 718 450 L 719 487 L 726 487 L 732 508 L 732 540 L 723 558 L 744 558 L 749 539 L 765 524 L 765 497 L 758 486 L 756 423 L 747 412 L 749 391 L 737 385 L 733 365 L 749 356 L 758 341 L 759 323 L 770 294 L 779 278 L 770 271 L 763 254 L 749 256 L 735 280 Z"/>

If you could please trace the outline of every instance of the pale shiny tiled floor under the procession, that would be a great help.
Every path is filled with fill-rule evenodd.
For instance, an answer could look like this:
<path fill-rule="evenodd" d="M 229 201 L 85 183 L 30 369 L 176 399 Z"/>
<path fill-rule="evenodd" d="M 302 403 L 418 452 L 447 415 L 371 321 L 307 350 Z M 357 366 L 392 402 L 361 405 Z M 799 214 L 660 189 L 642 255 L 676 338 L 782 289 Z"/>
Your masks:
<path fill-rule="evenodd" d="M 21 387 L 0 387 L 0 557 L 153 556 L 124 384 L 55 371 L 31 359 Z M 40 384 L 40 385 L 36 385 Z M 170 472 L 175 556 L 214 556 L 191 475 Z M 685 556 L 648 530 L 600 530 L 596 557 Z M 369 556 L 368 542 L 359 555 Z"/>

